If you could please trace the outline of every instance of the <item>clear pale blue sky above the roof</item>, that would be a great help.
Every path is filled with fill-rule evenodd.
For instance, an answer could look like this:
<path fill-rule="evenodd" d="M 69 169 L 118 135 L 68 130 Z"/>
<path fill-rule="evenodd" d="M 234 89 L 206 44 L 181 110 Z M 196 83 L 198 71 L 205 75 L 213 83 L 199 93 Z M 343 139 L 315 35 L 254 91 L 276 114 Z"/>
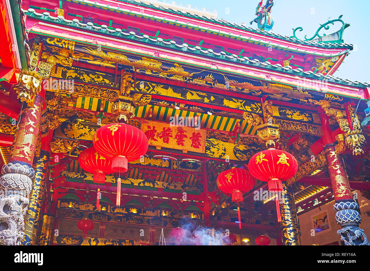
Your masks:
<path fill-rule="evenodd" d="M 218 18 L 241 24 L 255 18 L 255 9 L 260 0 L 178 0 L 182 3 L 216 9 Z M 354 50 L 344 60 L 334 76 L 343 79 L 357 80 L 359 82 L 370 82 L 370 38 L 368 26 L 368 14 L 370 8 L 369 0 L 275 0 L 272 8 L 272 17 L 275 24 L 272 32 L 275 34 L 293 34 L 292 28 L 303 27 L 303 31 L 296 32 L 298 38 L 312 37 L 319 23 L 326 23 L 328 17 L 337 19 L 343 15 L 344 23 L 350 27 L 344 30 L 343 40 L 347 44 L 353 44 Z M 263 0 L 263 4 L 266 0 Z M 342 23 L 337 22 L 329 30 L 320 31 L 320 34 L 331 34 L 340 29 Z M 257 24 L 252 24 L 257 28 Z"/>

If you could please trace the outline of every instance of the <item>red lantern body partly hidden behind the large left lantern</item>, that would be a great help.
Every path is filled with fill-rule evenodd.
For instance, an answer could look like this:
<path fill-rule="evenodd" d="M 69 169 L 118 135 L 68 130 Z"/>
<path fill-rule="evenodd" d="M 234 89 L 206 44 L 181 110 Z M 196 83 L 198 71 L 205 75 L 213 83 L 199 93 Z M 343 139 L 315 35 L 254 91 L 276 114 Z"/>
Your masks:
<path fill-rule="evenodd" d="M 100 155 L 94 147 L 87 148 L 78 156 L 78 163 L 87 172 L 93 173 L 94 183 L 105 183 L 105 175 L 114 172 L 112 161 Z"/>

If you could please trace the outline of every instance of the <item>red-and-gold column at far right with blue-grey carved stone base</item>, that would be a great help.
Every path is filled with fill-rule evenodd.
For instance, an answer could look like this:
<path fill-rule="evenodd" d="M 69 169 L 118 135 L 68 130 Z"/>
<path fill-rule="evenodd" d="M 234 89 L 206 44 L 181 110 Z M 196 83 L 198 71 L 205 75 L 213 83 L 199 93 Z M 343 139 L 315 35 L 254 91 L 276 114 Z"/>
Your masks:
<path fill-rule="evenodd" d="M 335 199 L 333 206 L 336 211 L 335 219 L 342 226 L 342 229 L 338 230 L 337 233 L 340 235 L 340 240 L 344 241 L 346 245 L 370 245 L 363 230 L 359 228 L 361 223 L 359 205 L 353 200 L 342 157 L 337 154 L 336 143 L 333 143 L 329 134 L 327 115 L 321 114 L 320 116 L 324 134 L 324 153 Z"/>

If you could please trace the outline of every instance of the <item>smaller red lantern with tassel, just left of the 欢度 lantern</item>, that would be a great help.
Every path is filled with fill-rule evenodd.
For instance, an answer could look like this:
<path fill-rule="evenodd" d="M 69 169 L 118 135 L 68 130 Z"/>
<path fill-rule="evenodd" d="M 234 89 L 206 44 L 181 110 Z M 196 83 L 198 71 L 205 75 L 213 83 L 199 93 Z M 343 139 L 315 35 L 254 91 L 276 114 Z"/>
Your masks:
<path fill-rule="evenodd" d="M 245 169 L 231 168 L 221 172 L 216 180 L 218 188 L 225 194 L 231 194 L 232 201 L 238 203 L 239 228 L 242 228 L 239 202 L 243 201 L 243 193 L 253 189 L 255 181 Z"/>

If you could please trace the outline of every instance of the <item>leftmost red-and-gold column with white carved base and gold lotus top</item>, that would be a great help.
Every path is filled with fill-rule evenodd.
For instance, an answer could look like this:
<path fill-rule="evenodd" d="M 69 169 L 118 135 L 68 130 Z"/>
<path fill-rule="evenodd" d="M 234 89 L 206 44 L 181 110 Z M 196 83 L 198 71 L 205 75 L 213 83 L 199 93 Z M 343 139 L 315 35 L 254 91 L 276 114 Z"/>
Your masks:
<path fill-rule="evenodd" d="M 32 162 L 44 103 L 43 97 L 37 95 L 40 80 L 35 73 L 22 72 L 14 89 L 31 106 L 24 106 L 21 112 L 9 163 L 1 170 L 0 190 L 4 194 L 0 195 L 0 245 L 20 245 L 23 240 L 24 215 L 35 175 Z"/>

